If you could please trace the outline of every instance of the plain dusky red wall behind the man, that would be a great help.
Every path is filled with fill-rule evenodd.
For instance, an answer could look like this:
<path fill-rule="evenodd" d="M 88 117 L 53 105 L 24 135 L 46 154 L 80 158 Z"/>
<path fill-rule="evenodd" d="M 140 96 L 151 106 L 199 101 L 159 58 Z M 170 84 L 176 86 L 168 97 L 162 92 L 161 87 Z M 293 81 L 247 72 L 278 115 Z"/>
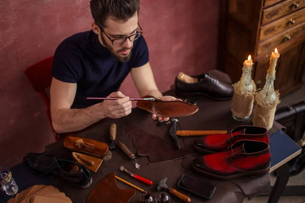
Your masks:
<path fill-rule="evenodd" d="M 218 13 L 219 1 L 141 1 L 139 22 L 161 91 L 179 72 L 216 68 Z M 65 38 L 89 30 L 93 19 L 89 0 L 4 0 L 0 14 L 0 165 L 12 166 L 53 142 L 45 105 L 23 70 L 53 55 Z M 130 76 L 121 91 L 138 95 Z"/>

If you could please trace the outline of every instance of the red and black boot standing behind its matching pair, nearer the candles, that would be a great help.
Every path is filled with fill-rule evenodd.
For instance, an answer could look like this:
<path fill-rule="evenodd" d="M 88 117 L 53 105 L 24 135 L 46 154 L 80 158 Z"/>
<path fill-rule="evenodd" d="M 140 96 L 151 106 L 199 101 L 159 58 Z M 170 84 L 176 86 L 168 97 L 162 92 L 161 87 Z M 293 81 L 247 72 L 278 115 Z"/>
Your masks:
<path fill-rule="evenodd" d="M 222 152 L 239 140 L 257 140 L 269 144 L 268 130 L 264 127 L 241 125 L 226 134 L 209 134 L 195 140 L 194 148 L 202 154 Z"/>

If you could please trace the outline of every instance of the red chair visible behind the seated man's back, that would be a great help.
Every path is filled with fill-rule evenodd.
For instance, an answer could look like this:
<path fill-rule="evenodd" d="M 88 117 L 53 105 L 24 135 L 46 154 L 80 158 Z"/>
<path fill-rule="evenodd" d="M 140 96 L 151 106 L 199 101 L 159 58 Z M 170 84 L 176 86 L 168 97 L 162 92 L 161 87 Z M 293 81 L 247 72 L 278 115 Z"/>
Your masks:
<path fill-rule="evenodd" d="M 50 98 L 48 94 L 45 92 L 45 89 L 51 86 L 52 62 L 53 62 L 53 56 L 46 58 L 42 61 L 39 61 L 29 67 L 26 67 L 26 69 L 24 69 L 24 73 L 27 79 L 29 80 L 29 82 L 33 85 L 35 91 L 40 94 L 44 103 L 46 104 L 47 106 L 46 113 L 53 130 L 53 135 L 55 141 L 58 141 L 60 135 L 53 128 L 51 112 L 50 112 Z"/>

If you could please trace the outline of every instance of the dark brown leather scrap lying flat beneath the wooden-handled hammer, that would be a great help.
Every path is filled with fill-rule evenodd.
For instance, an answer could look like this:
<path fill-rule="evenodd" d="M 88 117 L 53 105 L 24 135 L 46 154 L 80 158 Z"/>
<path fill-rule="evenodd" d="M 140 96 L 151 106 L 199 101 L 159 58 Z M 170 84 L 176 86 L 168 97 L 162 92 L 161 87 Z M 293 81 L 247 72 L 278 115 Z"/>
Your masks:
<path fill-rule="evenodd" d="M 195 154 L 185 149 L 177 150 L 167 143 L 168 141 L 153 136 L 131 124 L 128 124 L 127 132 L 135 144 L 138 154 L 148 156 L 149 164 L 171 161 Z"/>

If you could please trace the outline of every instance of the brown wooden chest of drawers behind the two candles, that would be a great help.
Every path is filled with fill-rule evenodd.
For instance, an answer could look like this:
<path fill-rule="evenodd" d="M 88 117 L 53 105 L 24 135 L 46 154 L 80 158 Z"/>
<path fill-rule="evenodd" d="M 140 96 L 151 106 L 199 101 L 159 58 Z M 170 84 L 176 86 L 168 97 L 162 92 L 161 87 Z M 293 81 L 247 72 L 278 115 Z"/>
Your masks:
<path fill-rule="evenodd" d="M 233 82 L 251 54 L 253 79 L 262 88 L 275 48 L 275 89 L 285 95 L 305 82 L 305 0 L 222 0 L 219 33 L 218 68 Z"/>

